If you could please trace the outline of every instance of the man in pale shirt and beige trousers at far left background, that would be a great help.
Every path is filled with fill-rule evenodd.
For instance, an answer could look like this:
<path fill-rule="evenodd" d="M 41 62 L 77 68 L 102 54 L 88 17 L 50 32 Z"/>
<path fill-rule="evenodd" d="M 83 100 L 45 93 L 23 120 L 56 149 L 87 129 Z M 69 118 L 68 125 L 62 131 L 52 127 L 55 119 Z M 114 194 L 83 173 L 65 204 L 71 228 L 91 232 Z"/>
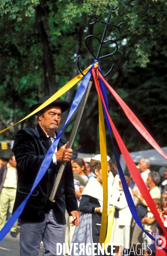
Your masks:
<path fill-rule="evenodd" d="M 16 170 L 16 160 L 12 153 L 8 163 L 0 169 L 0 230 L 6 223 L 6 217 L 8 212 L 13 211 L 14 201 L 16 197 L 17 189 L 17 170 Z M 17 221 L 11 228 L 11 236 L 17 236 Z"/>

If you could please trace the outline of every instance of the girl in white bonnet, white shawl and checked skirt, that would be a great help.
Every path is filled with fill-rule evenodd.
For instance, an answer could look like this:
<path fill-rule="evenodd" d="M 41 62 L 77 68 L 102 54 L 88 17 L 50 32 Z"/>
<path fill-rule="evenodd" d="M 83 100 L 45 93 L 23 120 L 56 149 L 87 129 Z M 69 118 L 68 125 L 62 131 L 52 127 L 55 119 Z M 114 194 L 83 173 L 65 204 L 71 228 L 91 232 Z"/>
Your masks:
<path fill-rule="evenodd" d="M 109 159 L 110 157 L 107 156 L 107 161 Z M 99 243 L 103 209 L 102 167 L 100 154 L 92 157 L 91 166 L 91 171 L 96 175 L 96 177 L 90 178 L 82 192 L 82 198 L 79 205 L 79 211 L 82 212 L 82 214 L 80 216 L 79 226 L 74 231 L 71 243 L 90 243 L 91 245 L 89 248 L 92 250 L 92 244 Z M 109 164 L 106 172 L 108 172 L 109 175 Z M 95 251 L 95 253 L 97 253 L 97 251 Z M 72 249 L 71 256 L 73 255 L 74 250 Z"/>

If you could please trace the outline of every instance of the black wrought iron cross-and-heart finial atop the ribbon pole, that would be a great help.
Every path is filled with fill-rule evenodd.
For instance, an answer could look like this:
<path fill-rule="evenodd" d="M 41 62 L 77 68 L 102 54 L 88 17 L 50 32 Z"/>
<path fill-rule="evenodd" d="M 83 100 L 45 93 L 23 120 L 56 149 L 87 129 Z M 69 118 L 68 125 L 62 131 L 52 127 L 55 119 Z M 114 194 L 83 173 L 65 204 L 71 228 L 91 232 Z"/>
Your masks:
<path fill-rule="evenodd" d="M 106 34 L 106 31 L 107 31 L 108 26 L 116 27 L 116 28 L 118 29 L 119 33 L 121 33 L 121 29 L 122 29 L 121 25 L 124 23 L 124 22 L 121 22 L 118 26 L 109 23 L 110 17 L 111 17 L 111 14 L 112 14 L 112 11 L 113 11 L 113 10 L 116 10 L 116 9 L 118 8 L 118 6 L 116 6 L 116 7 L 114 8 L 113 5 L 112 5 L 112 6 L 109 6 L 109 3 L 108 3 L 108 4 L 107 4 L 107 7 L 108 7 L 108 9 L 110 10 L 109 15 L 108 15 L 108 18 L 107 18 L 107 22 L 98 20 L 97 17 L 96 17 L 96 15 L 93 14 L 94 19 L 93 19 L 93 22 L 90 23 L 91 25 L 94 25 L 96 22 L 105 24 L 105 29 L 104 29 L 104 32 L 103 32 L 103 35 L 102 35 L 102 40 L 100 40 L 100 39 L 99 39 L 97 36 L 95 36 L 95 35 L 88 35 L 88 36 L 85 38 L 85 45 L 86 45 L 86 48 L 88 49 L 88 51 L 91 53 L 91 55 L 92 55 L 96 60 L 100 60 L 100 59 L 102 59 L 102 58 L 106 58 L 106 57 L 112 56 L 112 55 L 114 55 L 114 54 L 118 51 L 118 44 L 116 43 L 115 40 L 109 39 L 109 40 L 107 40 L 107 41 L 104 41 L 104 40 L 105 40 L 105 34 Z M 93 52 L 91 51 L 91 49 L 88 47 L 87 41 L 88 41 L 89 38 L 96 38 L 96 40 L 98 40 L 99 43 L 100 43 L 97 56 L 95 56 L 95 55 L 93 54 Z M 100 57 L 100 52 L 101 52 L 101 50 L 102 50 L 103 44 L 106 44 L 106 43 L 108 43 L 108 42 L 111 42 L 112 44 L 115 44 L 116 49 L 115 49 L 112 53 Z M 84 74 L 82 73 L 82 71 L 81 71 L 81 69 L 80 69 L 80 67 L 79 67 L 79 57 L 80 57 L 80 56 L 78 56 L 78 57 L 76 58 L 77 67 L 78 67 L 78 69 L 79 69 L 79 72 L 82 74 L 82 76 L 84 76 Z M 108 71 L 108 73 L 105 74 L 105 76 L 107 76 L 113 69 L 115 69 L 114 64 L 112 65 L 112 67 L 110 68 L 110 70 Z M 104 76 L 104 77 L 105 77 L 105 76 Z"/>

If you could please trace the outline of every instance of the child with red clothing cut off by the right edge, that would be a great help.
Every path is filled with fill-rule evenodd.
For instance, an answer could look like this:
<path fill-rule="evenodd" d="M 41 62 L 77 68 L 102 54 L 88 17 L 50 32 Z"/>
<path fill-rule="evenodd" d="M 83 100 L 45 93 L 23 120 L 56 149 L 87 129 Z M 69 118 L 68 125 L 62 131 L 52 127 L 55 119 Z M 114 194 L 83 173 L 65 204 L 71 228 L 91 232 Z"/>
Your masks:
<path fill-rule="evenodd" d="M 161 199 L 159 211 L 161 212 L 160 214 L 161 221 L 164 223 L 164 227 L 166 227 L 166 230 L 167 230 L 167 198 L 166 197 Z M 167 235 L 161 230 L 160 227 L 159 227 L 159 234 L 163 236 L 164 239 L 167 241 Z M 163 241 L 161 245 L 163 245 Z M 167 244 L 165 245 L 164 248 L 167 249 Z M 156 250 L 156 256 L 167 256 L 167 253 L 164 250 Z"/>

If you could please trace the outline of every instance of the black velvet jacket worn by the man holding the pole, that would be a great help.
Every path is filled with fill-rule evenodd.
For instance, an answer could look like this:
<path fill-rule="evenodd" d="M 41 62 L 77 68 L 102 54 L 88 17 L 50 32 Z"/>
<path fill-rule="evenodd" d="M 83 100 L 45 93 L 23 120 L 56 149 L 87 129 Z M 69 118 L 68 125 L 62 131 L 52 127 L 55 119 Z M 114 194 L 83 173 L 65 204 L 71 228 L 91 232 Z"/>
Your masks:
<path fill-rule="evenodd" d="M 61 137 L 58 150 L 66 142 L 67 140 Z M 17 161 L 18 183 L 13 212 L 29 194 L 50 145 L 51 141 L 40 125 L 36 128 L 21 129 L 15 135 L 13 152 Z M 37 222 L 45 219 L 46 201 L 50 196 L 60 165 L 61 162 L 54 164 L 51 160 L 47 172 L 28 199 L 20 218 Z M 52 207 L 54 219 L 58 224 L 66 223 L 65 208 L 69 214 L 71 211 L 78 210 L 71 162 L 66 163 L 59 195 Z"/>

